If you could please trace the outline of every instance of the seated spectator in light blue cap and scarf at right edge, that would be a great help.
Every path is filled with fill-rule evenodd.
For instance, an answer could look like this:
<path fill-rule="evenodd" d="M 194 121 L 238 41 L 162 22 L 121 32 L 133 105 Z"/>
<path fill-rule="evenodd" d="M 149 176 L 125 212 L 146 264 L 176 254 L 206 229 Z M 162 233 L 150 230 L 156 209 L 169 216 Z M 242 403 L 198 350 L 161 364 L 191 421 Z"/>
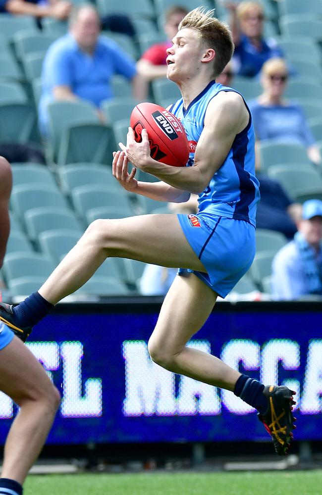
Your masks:
<path fill-rule="evenodd" d="M 272 263 L 272 297 L 297 299 L 322 295 L 322 201 L 303 203 L 294 240 L 283 246 Z"/>

